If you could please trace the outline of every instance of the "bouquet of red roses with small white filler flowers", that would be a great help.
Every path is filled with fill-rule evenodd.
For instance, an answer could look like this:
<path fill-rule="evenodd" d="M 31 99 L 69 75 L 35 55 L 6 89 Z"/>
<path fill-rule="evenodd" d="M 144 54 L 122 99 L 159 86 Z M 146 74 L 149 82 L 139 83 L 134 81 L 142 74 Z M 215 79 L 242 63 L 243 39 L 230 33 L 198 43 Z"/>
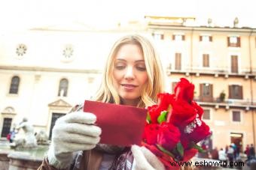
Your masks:
<path fill-rule="evenodd" d="M 209 126 L 202 121 L 203 109 L 193 100 L 194 85 L 181 78 L 174 92 L 158 94 L 158 104 L 148 107 L 142 138 L 142 145 L 166 169 L 178 169 L 175 162 L 190 160 L 197 151 L 203 151 L 197 142 L 210 135 Z"/>

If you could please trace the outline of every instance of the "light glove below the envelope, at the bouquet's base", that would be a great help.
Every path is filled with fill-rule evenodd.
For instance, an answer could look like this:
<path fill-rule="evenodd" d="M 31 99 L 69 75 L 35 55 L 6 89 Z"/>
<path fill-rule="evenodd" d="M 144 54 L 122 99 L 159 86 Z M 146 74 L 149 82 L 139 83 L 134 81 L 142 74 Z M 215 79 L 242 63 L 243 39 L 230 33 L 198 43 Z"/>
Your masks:
<path fill-rule="evenodd" d="M 147 148 L 133 145 L 131 151 L 136 170 L 165 170 L 163 163 Z"/>

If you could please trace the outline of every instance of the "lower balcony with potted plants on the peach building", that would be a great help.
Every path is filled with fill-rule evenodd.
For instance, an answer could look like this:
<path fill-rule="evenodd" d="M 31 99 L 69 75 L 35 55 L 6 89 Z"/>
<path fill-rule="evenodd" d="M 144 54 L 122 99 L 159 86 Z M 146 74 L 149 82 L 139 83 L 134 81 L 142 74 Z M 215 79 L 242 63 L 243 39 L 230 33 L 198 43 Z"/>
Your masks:
<path fill-rule="evenodd" d="M 233 100 L 233 99 L 227 99 L 224 101 L 221 101 L 219 97 L 212 97 L 207 100 L 202 100 L 201 97 L 194 97 L 194 100 L 200 104 L 200 106 L 212 106 L 215 107 L 215 109 L 218 108 L 239 108 L 239 109 L 256 109 L 256 101 L 251 102 L 250 100 Z"/>

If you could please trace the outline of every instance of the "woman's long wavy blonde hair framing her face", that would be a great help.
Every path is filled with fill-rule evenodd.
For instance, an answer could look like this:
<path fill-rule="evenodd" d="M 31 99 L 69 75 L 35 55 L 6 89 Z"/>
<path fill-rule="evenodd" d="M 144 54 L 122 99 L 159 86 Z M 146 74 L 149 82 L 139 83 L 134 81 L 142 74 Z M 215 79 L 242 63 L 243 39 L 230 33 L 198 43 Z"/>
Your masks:
<path fill-rule="evenodd" d="M 137 34 L 122 37 L 114 43 L 114 46 L 108 55 L 108 60 L 103 72 L 102 84 L 100 85 L 99 91 L 96 93 L 95 100 L 105 103 L 120 104 L 120 97 L 113 84 L 113 68 L 114 57 L 117 55 L 120 47 L 125 44 L 136 44 L 142 49 L 148 81 L 142 90 L 142 97 L 139 100 L 137 107 L 143 108 L 145 106 L 151 106 L 157 102 L 157 94 L 163 92 L 163 67 L 152 43 L 145 37 Z"/>

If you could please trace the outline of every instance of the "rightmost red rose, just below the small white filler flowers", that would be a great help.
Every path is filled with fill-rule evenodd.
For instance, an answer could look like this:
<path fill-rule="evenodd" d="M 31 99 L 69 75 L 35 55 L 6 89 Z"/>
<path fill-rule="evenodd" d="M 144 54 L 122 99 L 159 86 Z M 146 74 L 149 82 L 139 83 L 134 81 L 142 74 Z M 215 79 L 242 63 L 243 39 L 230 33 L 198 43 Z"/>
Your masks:
<path fill-rule="evenodd" d="M 185 133 L 190 141 L 197 143 L 211 134 L 209 126 L 205 122 L 201 122 L 202 124 L 200 126 L 197 125 L 191 133 Z"/>

